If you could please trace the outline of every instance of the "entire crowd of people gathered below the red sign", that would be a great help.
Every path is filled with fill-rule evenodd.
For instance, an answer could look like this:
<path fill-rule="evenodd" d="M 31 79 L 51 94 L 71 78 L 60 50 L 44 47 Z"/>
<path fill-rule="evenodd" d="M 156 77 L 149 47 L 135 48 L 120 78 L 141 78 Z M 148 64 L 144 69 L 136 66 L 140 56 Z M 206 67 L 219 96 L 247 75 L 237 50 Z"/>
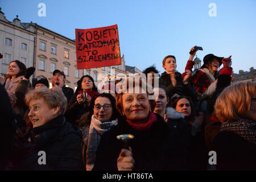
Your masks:
<path fill-rule="evenodd" d="M 145 80 L 97 88 L 84 75 L 75 92 L 63 71 L 49 88 L 44 78 L 31 84 L 34 67 L 11 61 L 0 77 L 1 170 L 255 170 L 256 82 L 231 84 L 231 56 L 205 55 L 193 72 L 190 51 L 182 74 L 168 55 L 160 77 L 153 65 Z"/>

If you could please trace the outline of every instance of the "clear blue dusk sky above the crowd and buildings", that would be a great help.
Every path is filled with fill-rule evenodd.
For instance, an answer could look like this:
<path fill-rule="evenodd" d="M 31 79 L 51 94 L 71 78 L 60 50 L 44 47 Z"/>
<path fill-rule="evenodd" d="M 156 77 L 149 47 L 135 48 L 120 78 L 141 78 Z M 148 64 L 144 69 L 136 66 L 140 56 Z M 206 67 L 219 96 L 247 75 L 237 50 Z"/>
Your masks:
<path fill-rule="evenodd" d="M 38 16 L 39 3 L 46 16 Z M 209 16 L 216 5 L 216 16 Z M 162 73 L 162 60 L 176 56 L 177 70 L 184 71 L 192 46 L 201 46 L 197 57 L 208 53 L 232 55 L 235 73 L 256 69 L 256 0 L 0 0 L 9 21 L 33 22 L 67 38 L 75 39 L 75 28 L 118 24 L 121 55 L 126 65 L 143 71 L 152 64 Z"/>

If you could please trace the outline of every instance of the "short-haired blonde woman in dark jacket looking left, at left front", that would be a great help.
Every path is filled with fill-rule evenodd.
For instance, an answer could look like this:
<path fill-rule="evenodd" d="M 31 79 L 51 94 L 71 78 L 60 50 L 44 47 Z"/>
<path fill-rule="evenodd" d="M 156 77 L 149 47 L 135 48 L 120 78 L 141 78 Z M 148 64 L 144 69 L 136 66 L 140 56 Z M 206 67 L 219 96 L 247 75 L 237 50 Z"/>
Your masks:
<path fill-rule="evenodd" d="M 22 134 L 16 136 L 14 152 L 19 160 L 15 169 L 82 169 L 81 131 L 75 130 L 63 117 L 67 107 L 63 92 L 59 89 L 31 90 L 26 94 L 26 103 L 30 109 L 28 117 L 33 125 L 33 137 L 29 142 Z M 27 150 L 18 145 L 20 142 Z M 38 162 L 40 151 L 46 155 L 44 165 Z"/>

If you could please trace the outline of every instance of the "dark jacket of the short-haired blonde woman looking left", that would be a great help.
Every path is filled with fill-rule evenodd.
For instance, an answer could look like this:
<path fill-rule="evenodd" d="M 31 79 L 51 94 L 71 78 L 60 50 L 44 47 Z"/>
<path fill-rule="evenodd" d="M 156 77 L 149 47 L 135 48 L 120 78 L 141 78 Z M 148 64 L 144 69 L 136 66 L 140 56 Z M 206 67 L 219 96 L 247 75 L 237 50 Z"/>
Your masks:
<path fill-rule="evenodd" d="M 63 115 L 33 129 L 34 152 L 14 170 L 81 170 L 81 131 L 66 122 Z M 32 151 L 32 150 L 30 150 Z M 39 151 L 46 152 L 46 164 L 39 165 Z"/>

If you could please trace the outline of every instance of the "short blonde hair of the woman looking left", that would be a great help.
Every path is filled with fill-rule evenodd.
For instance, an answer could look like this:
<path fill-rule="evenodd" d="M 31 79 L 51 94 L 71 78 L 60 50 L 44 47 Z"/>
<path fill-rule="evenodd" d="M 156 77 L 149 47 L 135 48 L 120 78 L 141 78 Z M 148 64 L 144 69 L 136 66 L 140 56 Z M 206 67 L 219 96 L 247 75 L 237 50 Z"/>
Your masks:
<path fill-rule="evenodd" d="M 25 101 L 28 106 L 32 100 L 38 100 L 40 98 L 43 98 L 43 100 L 51 109 L 59 106 L 60 110 L 58 112 L 58 115 L 65 113 L 68 101 L 61 89 L 41 88 L 36 90 L 30 90 L 30 92 L 28 92 L 25 96 Z"/>

